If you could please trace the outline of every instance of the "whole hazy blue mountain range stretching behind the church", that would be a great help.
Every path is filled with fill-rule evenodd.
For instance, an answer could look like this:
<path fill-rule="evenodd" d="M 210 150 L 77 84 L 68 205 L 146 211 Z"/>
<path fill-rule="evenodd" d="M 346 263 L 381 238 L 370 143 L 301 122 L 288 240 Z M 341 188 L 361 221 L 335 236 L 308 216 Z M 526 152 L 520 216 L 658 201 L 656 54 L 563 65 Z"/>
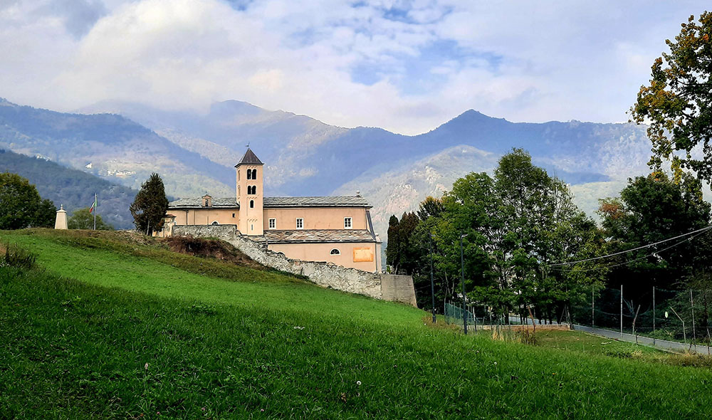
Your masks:
<path fill-rule="evenodd" d="M 365 196 L 384 236 L 391 214 L 438 196 L 468 172 L 491 171 L 513 147 L 569 183 L 592 215 L 597 199 L 647 172 L 645 127 L 629 123 L 509 122 L 468 110 L 422 135 L 335 127 L 305 115 L 228 100 L 165 111 L 105 101 L 60 113 L 0 100 L 0 147 L 137 188 L 159 172 L 177 197 L 234 194 L 246 145 L 265 162 L 266 195 Z M 0 168 L 1 169 L 1 168 Z"/>

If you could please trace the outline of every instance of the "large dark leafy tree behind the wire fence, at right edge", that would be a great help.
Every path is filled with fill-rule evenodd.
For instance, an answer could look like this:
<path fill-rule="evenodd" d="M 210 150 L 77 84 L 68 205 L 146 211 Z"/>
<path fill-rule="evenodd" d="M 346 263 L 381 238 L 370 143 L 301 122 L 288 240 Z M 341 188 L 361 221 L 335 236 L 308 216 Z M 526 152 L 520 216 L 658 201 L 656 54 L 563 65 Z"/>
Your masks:
<path fill-rule="evenodd" d="M 619 197 L 602 200 L 599 214 L 609 251 L 626 251 L 708 226 L 710 204 L 702 199 L 701 182 L 685 173 L 678 181 L 654 172 L 629 179 Z M 624 299 L 642 305 L 645 313 L 652 305 L 653 287 L 659 291 L 684 290 L 683 299 L 689 299 L 686 288 L 708 288 L 710 255 L 708 233 L 627 252 L 606 262 L 610 266 L 607 285 L 615 289 L 622 285 Z M 657 304 L 661 305 L 660 295 Z M 604 313 L 618 311 L 617 301 L 602 301 L 600 305 Z M 630 315 L 634 310 L 629 304 Z M 651 327 L 651 322 L 650 317 L 643 317 L 639 325 Z"/>

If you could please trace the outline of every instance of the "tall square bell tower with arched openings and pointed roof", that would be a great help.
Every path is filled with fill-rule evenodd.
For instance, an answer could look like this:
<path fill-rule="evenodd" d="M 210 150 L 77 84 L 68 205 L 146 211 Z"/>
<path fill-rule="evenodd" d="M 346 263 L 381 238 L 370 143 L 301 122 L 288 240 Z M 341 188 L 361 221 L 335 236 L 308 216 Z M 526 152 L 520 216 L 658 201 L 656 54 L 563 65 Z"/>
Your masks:
<path fill-rule="evenodd" d="M 263 235 L 263 174 L 264 164 L 248 147 L 235 165 L 237 201 L 240 203 L 237 229 L 243 235 Z"/>

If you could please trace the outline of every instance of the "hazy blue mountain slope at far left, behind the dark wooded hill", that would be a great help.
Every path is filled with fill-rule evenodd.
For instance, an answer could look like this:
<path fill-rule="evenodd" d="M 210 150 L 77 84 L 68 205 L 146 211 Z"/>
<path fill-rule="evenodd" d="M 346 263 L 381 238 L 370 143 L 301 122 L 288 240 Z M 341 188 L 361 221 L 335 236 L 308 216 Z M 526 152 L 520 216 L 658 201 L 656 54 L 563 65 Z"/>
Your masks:
<path fill-rule="evenodd" d="M 171 179 L 170 194 L 197 195 L 201 184 L 225 193 L 233 175 L 121 115 L 66 114 L 14 105 L 0 107 L 0 147 L 81 169 L 138 188 L 151 172 Z"/>

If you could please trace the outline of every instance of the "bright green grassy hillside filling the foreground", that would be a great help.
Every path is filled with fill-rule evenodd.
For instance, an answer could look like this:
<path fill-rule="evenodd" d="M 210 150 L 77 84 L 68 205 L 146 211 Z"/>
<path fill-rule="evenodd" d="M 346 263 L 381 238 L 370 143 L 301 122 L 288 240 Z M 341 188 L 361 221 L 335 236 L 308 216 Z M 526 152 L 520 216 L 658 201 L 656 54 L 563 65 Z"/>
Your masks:
<path fill-rule="evenodd" d="M 612 357 L 600 337 L 464 336 L 404 305 L 118 234 L 2 231 L 0 243 L 38 265 L 0 267 L 0 418 L 712 414 L 710 369 Z"/>

